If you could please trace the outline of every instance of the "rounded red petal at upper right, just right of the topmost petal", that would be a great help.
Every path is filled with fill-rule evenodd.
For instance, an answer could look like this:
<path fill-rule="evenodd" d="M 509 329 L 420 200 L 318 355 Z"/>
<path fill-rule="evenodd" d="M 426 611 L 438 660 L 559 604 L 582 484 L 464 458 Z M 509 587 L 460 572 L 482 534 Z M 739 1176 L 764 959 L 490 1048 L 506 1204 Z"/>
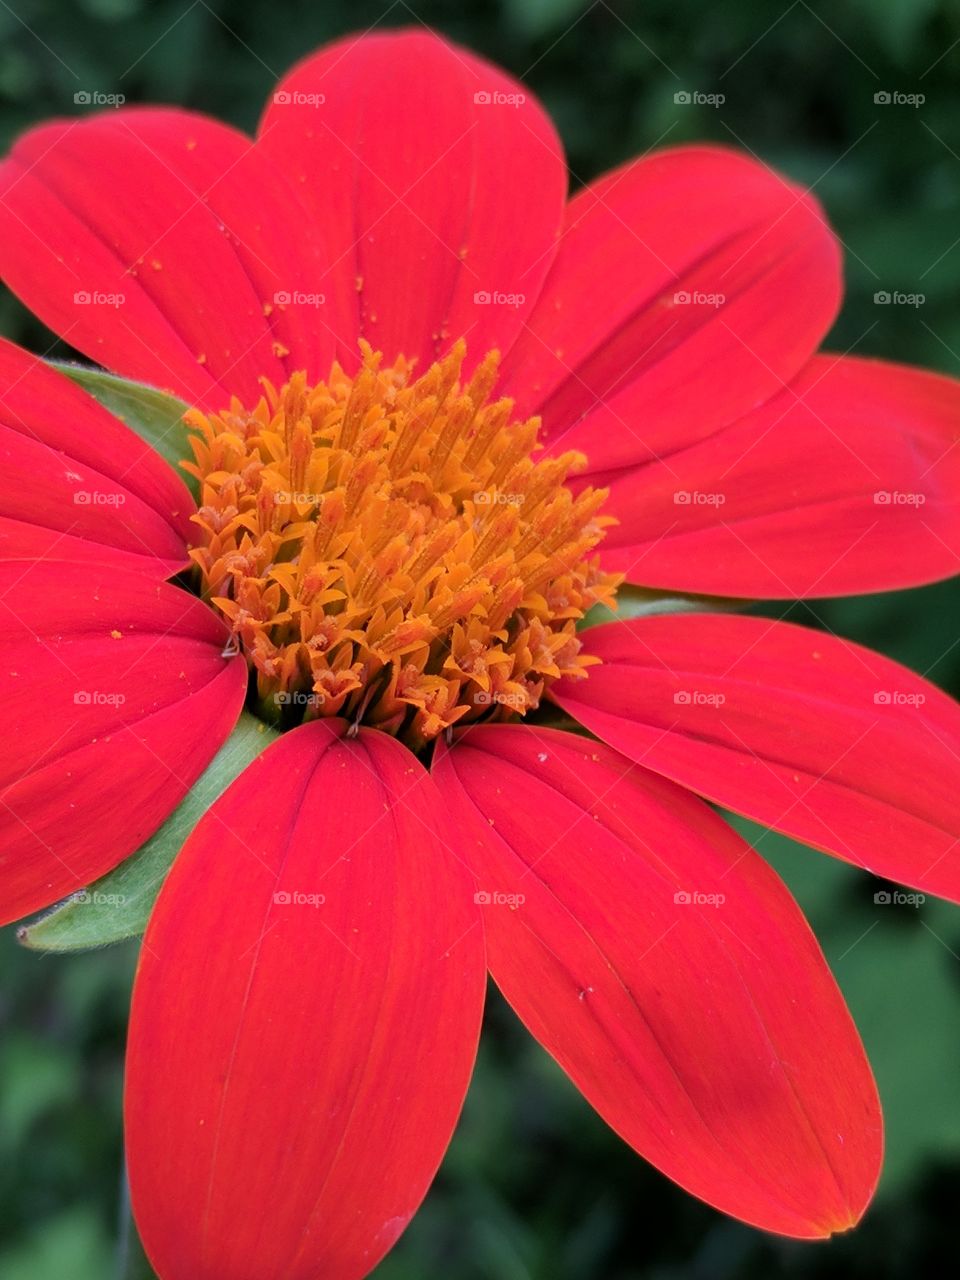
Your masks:
<path fill-rule="evenodd" d="M 634 465 L 778 392 L 838 301 L 837 244 L 813 197 L 733 151 L 662 151 L 571 202 L 506 390 L 591 470 Z"/>

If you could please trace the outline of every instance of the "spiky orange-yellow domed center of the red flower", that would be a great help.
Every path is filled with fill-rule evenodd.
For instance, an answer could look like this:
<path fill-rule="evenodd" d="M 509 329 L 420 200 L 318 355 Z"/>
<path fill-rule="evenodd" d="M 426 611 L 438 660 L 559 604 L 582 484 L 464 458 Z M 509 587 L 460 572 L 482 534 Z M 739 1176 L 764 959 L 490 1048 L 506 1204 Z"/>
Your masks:
<path fill-rule="evenodd" d="M 282 724 L 346 716 L 421 748 L 457 722 L 534 710 L 584 676 L 576 623 L 620 582 L 590 552 L 605 490 L 536 461 L 538 419 L 492 401 L 498 353 L 461 342 L 422 376 L 361 343 L 355 378 L 264 381 L 252 408 L 192 410 L 191 556 L 205 599 Z"/>

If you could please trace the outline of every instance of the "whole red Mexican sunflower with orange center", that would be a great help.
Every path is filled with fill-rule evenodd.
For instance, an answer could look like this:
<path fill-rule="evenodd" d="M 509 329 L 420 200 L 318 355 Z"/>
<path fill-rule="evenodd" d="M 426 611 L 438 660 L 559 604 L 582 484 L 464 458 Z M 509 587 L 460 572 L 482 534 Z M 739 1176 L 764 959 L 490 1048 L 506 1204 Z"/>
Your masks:
<path fill-rule="evenodd" d="M 868 1062 L 713 806 L 956 899 L 957 708 L 759 616 L 580 626 L 622 584 L 956 571 L 960 387 L 817 353 L 815 200 L 718 147 L 567 200 L 527 90 L 421 32 L 307 58 L 253 141 L 46 124 L 0 192 L 8 285 L 188 406 L 178 474 L 0 351 L 5 918 L 137 850 L 244 705 L 280 730 L 141 951 L 128 1169 L 163 1280 L 366 1275 L 451 1140 L 488 968 L 681 1187 L 785 1235 L 856 1222 Z"/>

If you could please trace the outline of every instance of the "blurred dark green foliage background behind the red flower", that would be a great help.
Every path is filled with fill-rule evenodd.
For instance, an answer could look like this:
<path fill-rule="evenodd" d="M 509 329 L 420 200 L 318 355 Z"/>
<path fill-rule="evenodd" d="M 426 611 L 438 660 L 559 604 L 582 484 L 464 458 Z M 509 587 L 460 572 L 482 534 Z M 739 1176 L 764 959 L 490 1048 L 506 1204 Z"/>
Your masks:
<path fill-rule="evenodd" d="M 846 246 L 847 300 L 831 346 L 960 375 L 959 4 L 0 0 L 0 142 L 82 110 L 78 86 L 250 129 L 274 79 L 314 45 L 417 22 L 540 95 L 575 183 L 655 145 L 712 138 L 814 186 Z M 726 101 L 677 104 L 681 91 Z M 925 101 L 874 101 L 884 92 Z M 878 291 L 925 301 L 878 306 Z M 9 296 L 0 332 L 35 349 L 51 340 Z M 960 694 L 955 584 L 769 612 L 829 626 Z M 755 828 L 749 836 L 808 910 L 878 1076 L 888 1155 L 863 1226 L 803 1245 L 690 1199 L 604 1128 L 494 997 L 448 1160 L 378 1276 L 879 1280 L 955 1268 L 960 910 L 876 906 L 868 876 Z M 116 1274 L 133 963 L 129 946 L 59 959 L 0 934 L 3 1280 Z"/>

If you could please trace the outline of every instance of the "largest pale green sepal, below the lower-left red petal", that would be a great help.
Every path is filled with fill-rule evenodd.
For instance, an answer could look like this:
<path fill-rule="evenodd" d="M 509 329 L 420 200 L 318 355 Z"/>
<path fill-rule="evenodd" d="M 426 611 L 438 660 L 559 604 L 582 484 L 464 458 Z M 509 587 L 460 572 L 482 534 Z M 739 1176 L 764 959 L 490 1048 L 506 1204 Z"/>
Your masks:
<path fill-rule="evenodd" d="M 276 732 L 243 712 L 205 773 L 164 826 L 114 870 L 68 897 L 18 940 L 33 951 L 87 951 L 138 937 L 183 842 L 214 800 L 276 739 Z"/>

